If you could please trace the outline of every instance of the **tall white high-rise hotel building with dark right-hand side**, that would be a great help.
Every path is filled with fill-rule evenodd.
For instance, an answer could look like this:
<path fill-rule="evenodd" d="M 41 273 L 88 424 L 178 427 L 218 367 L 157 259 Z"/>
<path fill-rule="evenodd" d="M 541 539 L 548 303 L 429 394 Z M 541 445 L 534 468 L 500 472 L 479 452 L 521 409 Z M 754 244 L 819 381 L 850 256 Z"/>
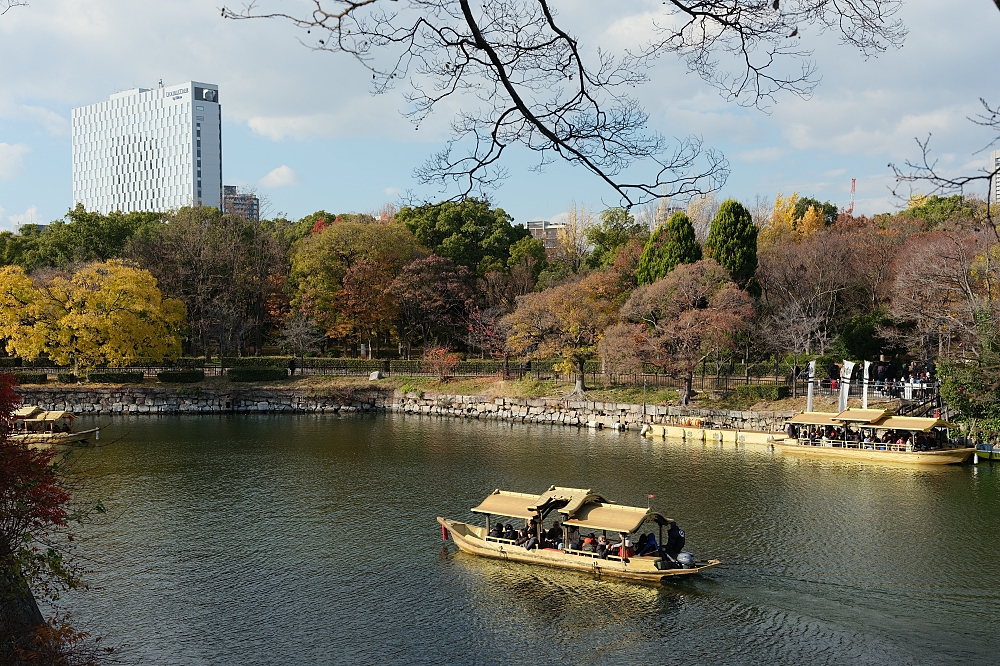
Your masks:
<path fill-rule="evenodd" d="M 73 203 L 168 211 L 222 204 L 219 87 L 133 88 L 73 109 Z"/>

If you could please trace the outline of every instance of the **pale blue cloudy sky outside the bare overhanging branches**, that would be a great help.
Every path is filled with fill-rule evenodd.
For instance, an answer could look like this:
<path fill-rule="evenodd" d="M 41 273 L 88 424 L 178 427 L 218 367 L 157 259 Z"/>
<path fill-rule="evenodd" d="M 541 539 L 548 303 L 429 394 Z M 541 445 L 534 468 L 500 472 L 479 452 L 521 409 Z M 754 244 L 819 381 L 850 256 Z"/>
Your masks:
<path fill-rule="evenodd" d="M 620 52 L 641 40 L 662 3 L 553 4 L 581 44 Z M 31 0 L 0 16 L 0 229 L 59 219 L 73 205 L 72 108 L 159 79 L 219 86 L 223 179 L 255 188 L 272 216 L 371 212 L 407 193 L 454 194 L 419 184 L 413 171 L 443 146 L 456 107 L 417 129 L 402 115 L 405 85 L 373 96 L 370 74 L 351 58 L 303 46 L 301 31 L 282 21 L 223 19 L 220 5 Z M 892 196 L 887 165 L 919 157 L 914 139 L 931 134 L 945 171 L 982 168 L 981 149 L 993 137 L 968 118 L 981 97 L 1000 104 L 994 3 L 903 0 L 900 17 L 909 29 L 902 48 L 869 59 L 835 35 L 802 30 L 822 77 L 807 100 L 785 95 L 767 111 L 744 108 L 670 59 L 634 94 L 652 129 L 700 136 L 726 155 L 732 174 L 719 197 L 799 192 L 846 206 L 856 178 L 856 213 L 895 210 L 903 202 Z M 537 173 L 533 164 L 527 150 L 514 151 L 509 177 L 490 195 L 515 222 L 554 219 L 573 204 L 617 204 L 578 167 L 555 163 Z"/>

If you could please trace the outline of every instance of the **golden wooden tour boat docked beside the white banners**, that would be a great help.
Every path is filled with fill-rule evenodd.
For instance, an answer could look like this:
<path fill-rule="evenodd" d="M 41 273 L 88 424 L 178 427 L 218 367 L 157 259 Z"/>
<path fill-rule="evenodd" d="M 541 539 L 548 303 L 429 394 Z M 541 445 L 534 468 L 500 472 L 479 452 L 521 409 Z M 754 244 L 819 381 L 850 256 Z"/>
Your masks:
<path fill-rule="evenodd" d="M 879 409 L 802 412 L 788 419 L 787 424 L 789 437 L 775 442 L 782 453 L 867 462 L 952 465 L 965 462 L 976 451 L 952 442 L 949 431 L 955 426 L 946 421 L 896 416 Z"/>

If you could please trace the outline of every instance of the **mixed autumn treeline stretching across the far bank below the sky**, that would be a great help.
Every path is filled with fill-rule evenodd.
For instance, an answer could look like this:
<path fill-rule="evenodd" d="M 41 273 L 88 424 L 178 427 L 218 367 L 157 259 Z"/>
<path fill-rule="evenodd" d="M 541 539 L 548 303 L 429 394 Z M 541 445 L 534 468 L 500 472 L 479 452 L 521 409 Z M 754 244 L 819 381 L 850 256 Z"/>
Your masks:
<path fill-rule="evenodd" d="M 51 310 L 37 305 L 34 319 L 17 312 L 31 300 L 17 290 L 30 285 L 45 303 L 64 293 L 60 312 L 85 311 L 80 294 L 100 280 L 80 271 L 99 265 L 101 275 L 155 278 L 169 311 L 158 315 L 163 330 L 183 330 L 176 349 L 160 345 L 168 356 L 281 346 L 384 358 L 448 348 L 558 357 L 577 372 L 600 359 L 619 374 L 882 357 L 951 363 L 965 384 L 978 378 L 982 402 L 989 373 L 969 369 L 994 363 L 1000 312 L 1000 245 L 987 222 L 983 202 L 959 196 L 914 198 L 871 218 L 797 194 L 752 206 L 708 196 L 638 214 L 574 205 L 546 248 L 474 198 L 296 221 L 77 207 L 64 220 L 0 234 L 8 313 L 0 334 L 11 347 L 26 322 Z M 46 348 L 36 339 L 31 349 Z"/>

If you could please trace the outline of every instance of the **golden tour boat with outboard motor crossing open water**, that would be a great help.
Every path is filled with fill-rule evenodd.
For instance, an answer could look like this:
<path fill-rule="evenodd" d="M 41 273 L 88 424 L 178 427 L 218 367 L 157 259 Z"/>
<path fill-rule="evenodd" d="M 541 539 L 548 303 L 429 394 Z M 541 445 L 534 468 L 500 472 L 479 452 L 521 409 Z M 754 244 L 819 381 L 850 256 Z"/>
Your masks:
<path fill-rule="evenodd" d="M 677 529 L 673 519 L 649 508 L 615 504 L 590 489 L 551 486 L 541 495 L 498 489 L 473 508 L 472 512 L 485 515 L 485 527 L 449 518 L 437 519 L 441 524 L 442 536 L 445 539 L 450 536 L 459 549 L 472 555 L 651 583 L 691 576 L 721 564 L 719 560 L 695 562 L 693 555 L 679 552 L 679 549 L 678 552 L 670 552 L 672 548 L 667 543 L 674 548 L 678 543 L 683 548 L 684 543 L 683 532 Z M 562 523 L 560 547 L 551 547 L 552 544 L 545 540 L 542 532 L 543 521 L 553 512 Z M 492 516 L 528 521 L 526 530 L 531 531 L 540 546 L 527 550 L 524 546 L 517 545 L 514 539 L 491 535 Z M 658 527 L 659 540 L 656 544 L 659 545 L 650 553 L 630 554 L 628 547 L 632 541 L 631 535 L 640 531 L 647 523 Z M 665 542 L 664 528 L 668 535 L 671 532 L 679 533 L 679 541 L 668 536 Z M 622 553 L 621 548 L 612 551 L 616 554 L 585 550 L 579 544 L 570 543 L 570 530 L 599 533 L 605 538 L 611 533 L 618 537 L 619 544 L 624 544 L 625 552 Z"/>

